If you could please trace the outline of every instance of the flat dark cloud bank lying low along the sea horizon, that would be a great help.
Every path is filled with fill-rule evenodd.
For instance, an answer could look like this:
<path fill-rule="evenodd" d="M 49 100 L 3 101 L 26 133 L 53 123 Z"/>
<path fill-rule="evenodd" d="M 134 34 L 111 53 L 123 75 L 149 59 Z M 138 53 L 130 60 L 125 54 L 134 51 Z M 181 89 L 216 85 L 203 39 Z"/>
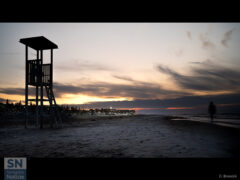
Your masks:
<path fill-rule="evenodd" d="M 226 109 L 228 112 L 239 112 L 240 94 L 226 94 L 226 95 L 212 95 L 212 96 L 184 96 L 175 99 L 165 100 L 134 100 L 134 101 L 111 101 L 111 102 L 93 102 L 88 103 L 88 107 L 91 108 L 159 108 L 161 112 L 167 107 L 194 107 L 193 112 L 207 113 L 207 106 L 210 101 L 215 104 L 236 104 L 236 107 L 230 107 L 232 109 Z M 223 109 L 219 109 L 218 113 L 223 113 Z M 189 110 L 188 110 L 189 112 Z M 225 111 L 226 112 L 226 111 Z"/>

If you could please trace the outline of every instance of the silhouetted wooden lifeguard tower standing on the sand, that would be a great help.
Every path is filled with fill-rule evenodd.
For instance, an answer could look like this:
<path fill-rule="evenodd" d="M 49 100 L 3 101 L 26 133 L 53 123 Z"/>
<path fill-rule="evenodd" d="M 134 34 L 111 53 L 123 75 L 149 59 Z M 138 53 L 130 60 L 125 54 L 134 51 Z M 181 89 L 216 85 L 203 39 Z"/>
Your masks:
<path fill-rule="evenodd" d="M 52 114 L 51 127 L 61 127 L 62 120 L 56 100 L 53 93 L 53 49 L 57 49 L 58 46 L 49 41 L 43 36 L 23 38 L 20 39 L 20 43 L 25 45 L 26 48 L 26 82 L 25 82 L 25 128 L 28 126 L 28 103 L 29 101 L 35 101 L 36 103 L 36 126 L 39 126 L 40 115 L 40 128 L 43 128 L 43 101 L 49 102 L 49 110 Z M 36 50 L 36 59 L 28 59 L 28 48 Z M 50 50 L 50 63 L 43 64 L 43 50 Z M 36 98 L 28 98 L 29 86 L 36 87 Z M 43 89 L 46 90 L 46 97 L 43 97 Z M 40 90 L 40 97 L 39 97 Z M 39 108 L 40 102 L 40 108 Z"/>

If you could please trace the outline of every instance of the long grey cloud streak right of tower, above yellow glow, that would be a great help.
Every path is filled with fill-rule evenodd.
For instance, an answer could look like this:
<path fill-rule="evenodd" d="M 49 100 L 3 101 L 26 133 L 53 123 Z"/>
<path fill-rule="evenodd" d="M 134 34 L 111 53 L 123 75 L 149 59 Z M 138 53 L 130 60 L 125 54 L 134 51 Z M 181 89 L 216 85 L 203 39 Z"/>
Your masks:
<path fill-rule="evenodd" d="M 58 97 L 63 94 L 85 94 L 104 98 L 125 97 L 134 99 L 156 99 L 160 96 L 183 96 L 185 92 L 165 90 L 159 85 L 145 82 L 133 82 L 131 85 L 95 82 L 79 86 L 55 83 L 54 89 Z"/>

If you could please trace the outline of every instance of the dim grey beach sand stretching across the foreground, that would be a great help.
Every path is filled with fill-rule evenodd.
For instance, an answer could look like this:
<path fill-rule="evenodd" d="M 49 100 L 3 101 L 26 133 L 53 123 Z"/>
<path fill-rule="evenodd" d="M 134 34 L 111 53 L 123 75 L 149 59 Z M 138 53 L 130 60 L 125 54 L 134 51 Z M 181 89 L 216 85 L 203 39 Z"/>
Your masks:
<path fill-rule="evenodd" d="M 160 115 L 78 119 L 62 129 L 0 128 L 1 157 L 240 157 L 240 130 Z"/>

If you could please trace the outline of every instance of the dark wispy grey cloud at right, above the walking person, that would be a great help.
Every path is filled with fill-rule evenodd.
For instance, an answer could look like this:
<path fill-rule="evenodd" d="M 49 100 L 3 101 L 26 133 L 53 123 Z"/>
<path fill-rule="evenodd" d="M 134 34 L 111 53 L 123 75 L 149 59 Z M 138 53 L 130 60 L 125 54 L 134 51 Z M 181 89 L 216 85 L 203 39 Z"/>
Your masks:
<path fill-rule="evenodd" d="M 158 70 L 170 75 L 183 88 L 193 90 L 239 90 L 240 72 L 205 61 L 197 62 L 191 75 L 182 75 L 168 67 L 159 65 Z"/>

